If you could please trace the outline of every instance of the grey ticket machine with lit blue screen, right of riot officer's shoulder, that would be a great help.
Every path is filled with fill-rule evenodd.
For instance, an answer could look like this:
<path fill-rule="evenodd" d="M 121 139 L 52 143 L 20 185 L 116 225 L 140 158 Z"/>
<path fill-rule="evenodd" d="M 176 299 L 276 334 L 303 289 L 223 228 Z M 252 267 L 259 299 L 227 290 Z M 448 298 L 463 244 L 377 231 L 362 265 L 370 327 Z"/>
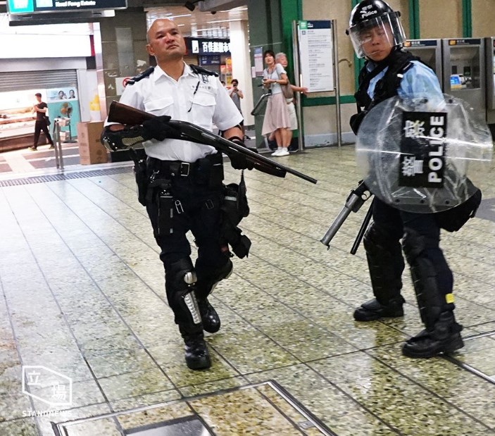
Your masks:
<path fill-rule="evenodd" d="M 484 48 L 481 38 L 442 40 L 444 93 L 468 101 L 483 118 L 487 101 Z"/>

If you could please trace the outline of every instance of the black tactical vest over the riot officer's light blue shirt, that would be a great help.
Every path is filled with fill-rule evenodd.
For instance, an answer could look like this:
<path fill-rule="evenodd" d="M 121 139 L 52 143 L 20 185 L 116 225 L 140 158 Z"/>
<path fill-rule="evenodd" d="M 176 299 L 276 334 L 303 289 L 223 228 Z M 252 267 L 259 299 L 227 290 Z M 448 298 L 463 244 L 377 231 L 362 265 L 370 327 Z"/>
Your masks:
<path fill-rule="evenodd" d="M 364 67 L 359 72 L 359 89 L 354 94 L 358 112 L 370 111 L 372 106 L 379 104 L 380 101 L 389 99 L 397 95 L 397 89 L 401 85 L 401 80 L 406 71 L 414 64 L 412 61 L 420 61 L 418 56 L 413 56 L 408 51 L 395 50 L 383 62 L 380 62 L 374 70 L 369 72 L 367 66 L 369 61 L 366 61 Z M 373 77 L 380 74 L 385 68 L 389 67 L 384 76 L 378 80 L 375 86 L 375 92 L 371 99 L 368 95 L 368 87 Z"/>

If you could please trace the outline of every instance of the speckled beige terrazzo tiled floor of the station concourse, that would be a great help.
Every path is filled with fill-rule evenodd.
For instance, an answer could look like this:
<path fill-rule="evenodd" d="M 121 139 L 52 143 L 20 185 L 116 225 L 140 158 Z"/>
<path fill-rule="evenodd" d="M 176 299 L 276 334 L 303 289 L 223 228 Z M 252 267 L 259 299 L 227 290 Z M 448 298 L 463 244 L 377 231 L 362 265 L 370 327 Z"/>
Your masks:
<path fill-rule="evenodd" d="M 368 205 L 319 242 L 360 179 L 353 147 L 279 159 L 318 184 L 246 172 L 253 245 L 211 297 L 223 327 L 205 371 L 185 366 L 130 168 L 0 187 L 0 435 L 151 435 L 193 418 L 205 435 L 495 435 L 494 170 L 479 217 L 442 234 L 465 347 L 413 360 L 408 275 L 403 318 L 352 318 L 371 295 L 363 247 L 349 254 Z"/>

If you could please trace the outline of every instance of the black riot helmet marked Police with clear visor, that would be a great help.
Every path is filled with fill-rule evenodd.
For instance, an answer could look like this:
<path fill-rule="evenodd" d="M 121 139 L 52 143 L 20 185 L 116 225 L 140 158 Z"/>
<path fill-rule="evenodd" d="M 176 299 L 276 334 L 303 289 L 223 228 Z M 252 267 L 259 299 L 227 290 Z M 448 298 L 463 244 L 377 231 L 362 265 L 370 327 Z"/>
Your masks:
<path fill-rule="evenodd" d="M 354 6 L 349 19 L 349 29 L 346 34 L 351 37 L 354 51 L 358 58 L 373 54 L 372 46 L 363 44 L 370 42 L 374 33 L 382 35 L 390 47 L 400 46 L 406 40 L 399 17 L 399 11 L 392 8 L 382 0 L 363 0 Z"/>

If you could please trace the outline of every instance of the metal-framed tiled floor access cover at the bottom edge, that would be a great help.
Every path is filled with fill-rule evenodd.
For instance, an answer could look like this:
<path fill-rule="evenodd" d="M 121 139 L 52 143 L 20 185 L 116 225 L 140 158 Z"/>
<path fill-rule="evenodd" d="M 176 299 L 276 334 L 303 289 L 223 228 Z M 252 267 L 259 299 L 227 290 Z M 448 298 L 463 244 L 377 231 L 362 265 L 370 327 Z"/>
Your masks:
<path fill-rule="evenodd" d="M 275 380 L 52 423 L 56 436 L 337 436 Z"/>

